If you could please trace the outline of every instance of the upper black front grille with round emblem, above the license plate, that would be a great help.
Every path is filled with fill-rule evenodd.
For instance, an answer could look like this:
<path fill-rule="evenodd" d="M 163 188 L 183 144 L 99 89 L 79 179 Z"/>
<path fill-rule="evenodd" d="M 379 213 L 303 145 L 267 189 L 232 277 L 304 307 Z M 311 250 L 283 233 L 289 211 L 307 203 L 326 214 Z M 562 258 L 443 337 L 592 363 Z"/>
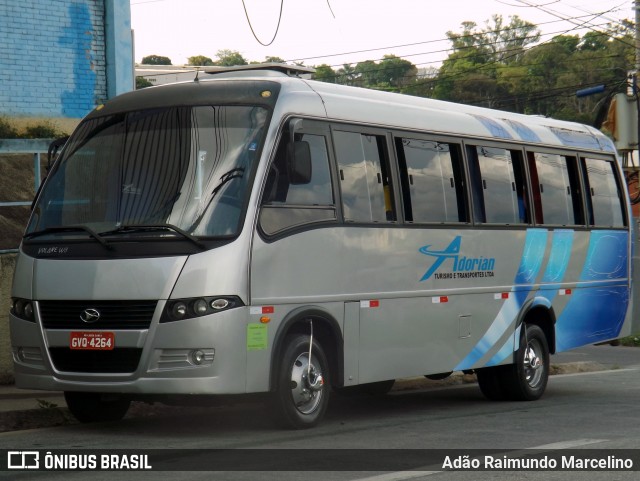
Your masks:
<path fill-rule="evenodd" d="M 45 329 L 102 330 L 149 329 L 158 302 L 40 301 L 38 304 Z M 83 313 L 87 310 L 97 311 L 99 318 L 91 323 L 83 321 Z"/>

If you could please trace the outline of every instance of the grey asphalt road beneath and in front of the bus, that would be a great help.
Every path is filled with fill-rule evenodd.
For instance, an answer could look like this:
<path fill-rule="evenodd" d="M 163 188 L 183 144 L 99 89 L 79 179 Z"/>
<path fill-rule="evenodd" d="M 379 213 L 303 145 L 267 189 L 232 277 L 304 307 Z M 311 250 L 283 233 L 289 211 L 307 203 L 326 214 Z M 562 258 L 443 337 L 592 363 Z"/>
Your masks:
<path fill-rule="evenodd" d="M 565 356 L 570 360 L 563 360 Z M 581 452 L 590 456 L 640 456 L 636 451 L 620 451 L 640 446 L 640 351 L 598 346 L 562 357 L 556 357 L 553 363 L 600 362 L 610 369 L 552 376 L 545 396 L 530 403 L 489 402 L 476 384 L 461 384 L 377 398 L 335 397 L 323 424 L 309 431 L 274 428 L 262 404 L 247 403 L 168 410 L 160 416 L 128 418 L 119 423 L 7 432 L 0 434 L 0 448 L 63 449 L 66 453 L 101 453 L 116 448 L 137 453 L 145 449 L 188 450 L 152 451 L 162 454 L 152 459 L 154 469 L 179 471 L 93 472 L 92 480 L 638 479 L 637 471 L 469 472 L 442 468 L 443 449 L 470 459 L 524 449 L 549 456 L 576 450 L 588 450 Z M 211 451 L 229 448 L 234 451 Z M 264 449 L 272 451 L 265 457 Z M 372 449 L 376 451 L 362 451 Z M 615 451 L 606 451 L 609 449 Z M 238 458 L 238 453 L 243 456 Z M 424 456 L 424 465 L 417 462 L 419 456 Z M 405 459 L 410 471 L 399 468 Z M 371 470 L 380 463 L 379 470 Z M 229 465 L 232 471 L 218 471 Z M 344 466 L 358 470 L 339 469 Z M 640 459 L 636 466 L 640 466 Z M 203 470 L 191 471 L 196 468 Z M 0 477 L 7 479 L 74 480 L 88 475 L 0 472 Z"/>

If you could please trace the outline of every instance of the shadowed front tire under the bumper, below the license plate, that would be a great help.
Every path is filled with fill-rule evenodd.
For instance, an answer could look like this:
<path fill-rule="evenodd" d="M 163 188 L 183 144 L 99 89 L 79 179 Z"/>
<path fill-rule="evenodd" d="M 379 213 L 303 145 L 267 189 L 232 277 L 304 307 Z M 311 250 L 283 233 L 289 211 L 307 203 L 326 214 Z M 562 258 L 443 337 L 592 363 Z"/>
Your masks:
<path fill-rule="evenodd" d="M 71 414 L 81 423 L 120 421 L 131 400 L 119 395 L 65 391 L 64 399 Z"/>

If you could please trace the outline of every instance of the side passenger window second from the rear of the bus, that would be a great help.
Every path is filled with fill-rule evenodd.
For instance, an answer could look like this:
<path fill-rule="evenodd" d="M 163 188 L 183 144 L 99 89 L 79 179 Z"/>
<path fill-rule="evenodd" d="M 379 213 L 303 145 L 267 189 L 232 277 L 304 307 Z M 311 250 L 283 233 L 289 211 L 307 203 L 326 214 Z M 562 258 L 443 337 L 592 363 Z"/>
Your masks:
<path fill-rule="evenodd" d="M 529 152 L 536 223 L 582 225 L 582 199 L 574 157 Z"/>

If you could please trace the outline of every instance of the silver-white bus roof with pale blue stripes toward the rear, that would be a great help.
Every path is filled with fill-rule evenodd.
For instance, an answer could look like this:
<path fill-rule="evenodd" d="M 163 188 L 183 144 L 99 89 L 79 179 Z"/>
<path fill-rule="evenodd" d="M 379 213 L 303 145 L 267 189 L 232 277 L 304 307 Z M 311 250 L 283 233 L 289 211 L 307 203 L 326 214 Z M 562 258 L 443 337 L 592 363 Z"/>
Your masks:
<path fill-rule="evenodd" d="M 584 124 L 297 77 L 300 73 L 308 73 L 309 69 L 300 72 L 295 68 L 269 68 L 264 65 L 254 69 L 246 67 L 209 70 L 207 73 L 210 75 L 192 82 L 150 87 L 121 97 L 126 97 L 125 103 L 134 108 L 135 104 L 139 104 L 136 100 L 142 97 L 146 101 L 140 102 L 140 107 L 148 107 L 154 102 L 155 107 L 185 105 L 202 102 L 208 97 L 207 92 L 213 94 L 216 86 L 222 82 L 227 88 L 231 83 L 242 81 L 254 82 L 254 85 L 266 82 L 264 85 L 279 84 L 277 104 L 283 116 L 325 117 L 337 122 L 364 123 L 441 135 L 616 152 L 607 136 Z M 112 102 L 123 107 L 116 99 L 109 101 L 107 106 L 111 107 Z M 116 110 L 120 109 L 116 107 Z"/>

